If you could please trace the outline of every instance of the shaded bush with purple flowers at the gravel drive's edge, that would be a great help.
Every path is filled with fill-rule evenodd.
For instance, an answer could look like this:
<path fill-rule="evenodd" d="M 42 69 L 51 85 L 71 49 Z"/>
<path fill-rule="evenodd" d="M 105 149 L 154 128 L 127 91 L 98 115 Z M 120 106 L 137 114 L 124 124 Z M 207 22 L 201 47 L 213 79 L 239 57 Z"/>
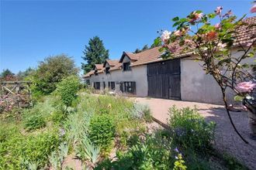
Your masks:
<path fill-rule="evenodd" d="M 206 123 L 197 110 L 189 107 L 178 110 L 174 106 L 169 109 L 169 113 L 169 126 L 178 145 L 201 153 L 213 148 L 215 123 Z"/>

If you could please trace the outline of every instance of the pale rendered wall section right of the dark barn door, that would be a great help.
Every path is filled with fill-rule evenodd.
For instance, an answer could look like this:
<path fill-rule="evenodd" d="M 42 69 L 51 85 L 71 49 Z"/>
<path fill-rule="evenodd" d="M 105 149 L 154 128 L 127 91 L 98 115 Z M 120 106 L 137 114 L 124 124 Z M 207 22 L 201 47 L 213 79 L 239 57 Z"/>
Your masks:
<path fill-rule="evenodd" d="M 206 75 L 199 64 L 202 62 L 181 59 L 182 100 L 222 104 L 220 87 L 211 75 Z"/>

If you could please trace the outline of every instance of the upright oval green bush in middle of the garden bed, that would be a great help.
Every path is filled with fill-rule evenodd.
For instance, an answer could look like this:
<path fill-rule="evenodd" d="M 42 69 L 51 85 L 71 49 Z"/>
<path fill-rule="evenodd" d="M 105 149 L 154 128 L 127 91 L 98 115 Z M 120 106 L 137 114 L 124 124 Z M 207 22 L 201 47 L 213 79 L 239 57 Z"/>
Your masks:
<path fill-rule="evenodd" d="M 115 137 L 115 123 L 109 114 L 95 114 L 90 121 L 88 132 L 90 141 L 107 152 Z"/>

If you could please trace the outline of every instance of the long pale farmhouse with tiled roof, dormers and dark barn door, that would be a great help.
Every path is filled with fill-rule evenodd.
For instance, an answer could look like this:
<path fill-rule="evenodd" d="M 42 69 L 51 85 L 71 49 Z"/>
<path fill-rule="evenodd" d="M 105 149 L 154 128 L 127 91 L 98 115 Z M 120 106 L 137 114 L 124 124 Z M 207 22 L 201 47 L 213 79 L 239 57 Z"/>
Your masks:
<path fill-rule="evenodd" d="M 244 22 L 256 23 L 256 17 Z M 237 42 L 251 42 L 251 35 L 256 28 L 241 27 Z M 195 62 L 195 54 L 179 51 L 175 59 L 162 59 L 160 47 L 147 49 L 140 53 L 123 52 L 119 60 L 107 59 L 105 63 L 96 64 L 94 70 L 85 75 L 85 81 L 93 87 L 130 93 L 137 97 L 157 97 L 164 99 L 189 100 L 211 104 L 222 104 L 220 87 L 211 75 L 206 75 Z M 234 44 L 234 56 L 237 55 Z M 253 63 L 254 59 L 251 59 Z M 230 100 L 233 98 L 229 96 Z"/>

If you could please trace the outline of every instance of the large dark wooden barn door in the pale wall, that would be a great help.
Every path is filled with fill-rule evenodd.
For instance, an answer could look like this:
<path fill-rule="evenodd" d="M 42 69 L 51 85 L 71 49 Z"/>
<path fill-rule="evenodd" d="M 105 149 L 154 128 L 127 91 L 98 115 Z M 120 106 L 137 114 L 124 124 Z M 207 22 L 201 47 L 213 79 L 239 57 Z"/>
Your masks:
<path fill-rule="evenodd" d="M 180 59 L 147 65 L 148 96 L 181 100 Z"/>

